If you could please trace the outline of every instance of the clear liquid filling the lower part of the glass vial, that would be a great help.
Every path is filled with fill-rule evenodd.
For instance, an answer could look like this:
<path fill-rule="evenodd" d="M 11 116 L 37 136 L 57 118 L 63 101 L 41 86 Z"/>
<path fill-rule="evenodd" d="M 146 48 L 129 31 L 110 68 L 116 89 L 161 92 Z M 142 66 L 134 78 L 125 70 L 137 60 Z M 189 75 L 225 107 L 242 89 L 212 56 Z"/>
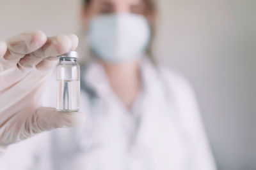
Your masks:
<path fill-rule="evenodd" d="M 78 111 L 80 102 L 79 80 L 57 80 L 57 111 Z"/>

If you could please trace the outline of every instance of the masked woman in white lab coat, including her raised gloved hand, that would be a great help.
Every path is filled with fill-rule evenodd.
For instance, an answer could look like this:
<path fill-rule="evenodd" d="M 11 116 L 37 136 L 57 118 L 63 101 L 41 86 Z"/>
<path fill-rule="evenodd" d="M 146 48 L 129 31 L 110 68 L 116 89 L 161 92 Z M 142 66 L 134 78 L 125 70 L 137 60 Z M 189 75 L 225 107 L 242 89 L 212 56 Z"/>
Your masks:
<path fill-rule="evenodd" d="M 52 103 L 42 84 L 76 36 L 35 31 L 0 43 L 2 168 L 215 169 L 188 83 L 150 57 L 155 18 L 150 0 L 85 1 L 93 57 L 81 69 L 81 113 L 41 107 L 43 93 Z"/>

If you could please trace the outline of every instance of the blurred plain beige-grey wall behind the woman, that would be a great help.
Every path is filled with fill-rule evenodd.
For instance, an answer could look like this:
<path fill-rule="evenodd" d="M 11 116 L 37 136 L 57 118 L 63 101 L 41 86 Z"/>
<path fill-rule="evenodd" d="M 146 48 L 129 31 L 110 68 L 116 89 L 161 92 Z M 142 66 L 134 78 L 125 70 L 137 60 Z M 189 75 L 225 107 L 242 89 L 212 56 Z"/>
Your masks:
<path fill-rule="evenodd" d="M 0 39 L 79 30 L 80 1 L 1 0 Z M 154 53 L 193 85 L 219 169 L 256 169 L 256 1 L 157 0 Z M 205 169 L 206 170 L 206 169 Z"/>

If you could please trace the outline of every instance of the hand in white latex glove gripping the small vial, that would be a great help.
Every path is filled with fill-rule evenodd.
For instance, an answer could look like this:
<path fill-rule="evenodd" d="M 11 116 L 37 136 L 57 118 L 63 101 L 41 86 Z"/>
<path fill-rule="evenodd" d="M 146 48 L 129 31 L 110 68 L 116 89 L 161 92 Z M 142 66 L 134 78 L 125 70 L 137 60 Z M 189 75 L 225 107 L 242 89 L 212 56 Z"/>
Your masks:
<path fill-rule="evenodd" d="M 58 62 L 56 56 L 77 44 L 74 34 L 47 38 L 42 31 L 0 41 L 0 152 L 40 132 L 83 122 L 83 113 L 42 107 L 44 81 Z"/>

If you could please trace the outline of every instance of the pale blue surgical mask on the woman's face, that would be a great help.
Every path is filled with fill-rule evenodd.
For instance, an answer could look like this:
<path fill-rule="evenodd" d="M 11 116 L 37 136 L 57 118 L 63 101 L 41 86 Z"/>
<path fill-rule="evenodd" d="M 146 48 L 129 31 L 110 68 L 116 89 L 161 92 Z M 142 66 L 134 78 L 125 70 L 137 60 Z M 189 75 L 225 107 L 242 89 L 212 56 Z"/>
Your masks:
<path fill-rule="evenodd" d="M 150 26 L 143 15 L 101 15 L 89 23 L 88 40 L 97 57 L 106 62 L 125 62 L 145 54 Z"/>

